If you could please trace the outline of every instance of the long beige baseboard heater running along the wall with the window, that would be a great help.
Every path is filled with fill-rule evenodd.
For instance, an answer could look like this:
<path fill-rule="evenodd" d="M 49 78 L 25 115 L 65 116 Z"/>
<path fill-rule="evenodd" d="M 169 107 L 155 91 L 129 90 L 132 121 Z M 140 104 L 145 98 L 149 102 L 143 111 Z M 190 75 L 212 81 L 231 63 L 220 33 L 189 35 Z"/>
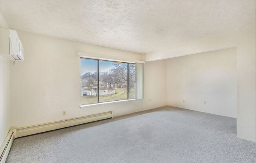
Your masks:
<path fill-rule="evenodd" d="M 55 121 L 50 123 L 43 123 L 39 125 L 33 125 L 28 127 L 22 127 L 18 129 L 12 129 L 14 133 L 14 138 L 37 134 L 40 132 L 46 132 L 50 130 L 56 130 L 61 129 L 64 127 L 70 127 L 74 125 L 80 125 L 83 123 L 88 123 L 92 121 L 98 121 L 98 120 L 104 120 L 108 118 L 113 118 L 113 112 L 103 112 L 99 114 L 93 114 L 89 116 L 83 116 L 83 117 L 77 117 L 77 118 L 71 118 L 67 120 L 61 120 L 61 121 Z"/>

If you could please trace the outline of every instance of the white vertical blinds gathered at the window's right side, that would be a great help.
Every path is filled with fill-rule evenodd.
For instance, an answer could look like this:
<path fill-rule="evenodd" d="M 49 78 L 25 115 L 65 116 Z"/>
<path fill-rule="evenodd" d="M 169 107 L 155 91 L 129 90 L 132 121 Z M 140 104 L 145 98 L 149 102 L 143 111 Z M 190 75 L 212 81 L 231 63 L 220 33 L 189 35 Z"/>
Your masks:
<path fill-rule="evenodd" d="M 136 99 L 143 99 L 143 63 L 136 63 Z"/>

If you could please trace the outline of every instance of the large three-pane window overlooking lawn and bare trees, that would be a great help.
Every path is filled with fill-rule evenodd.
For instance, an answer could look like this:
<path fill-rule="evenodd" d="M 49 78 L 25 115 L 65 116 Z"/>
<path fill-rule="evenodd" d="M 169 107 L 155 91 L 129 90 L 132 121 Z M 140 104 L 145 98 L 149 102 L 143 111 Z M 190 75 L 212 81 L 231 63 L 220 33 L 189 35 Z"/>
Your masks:
<path fill-rule="evenodd" d="M 81 105 L 135 98 L 135 64 L 81 58 Z"/>

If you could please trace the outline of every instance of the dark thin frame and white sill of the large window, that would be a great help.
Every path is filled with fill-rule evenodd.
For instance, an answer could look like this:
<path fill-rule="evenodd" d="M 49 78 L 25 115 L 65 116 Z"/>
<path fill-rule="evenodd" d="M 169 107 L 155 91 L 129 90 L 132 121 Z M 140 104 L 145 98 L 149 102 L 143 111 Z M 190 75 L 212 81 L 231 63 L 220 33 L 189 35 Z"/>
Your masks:
<path fill-rule="evenodd" d="M 119 61 L 112 61 L 112 60 L 102 60 L 102 59 L 94 59 L 94 58 L 86 58 L 86 57 L 80 57 L 80 64 L 81 64 L 81 60 L 82 59 L 85 59 L 85 60 L 95 60 L 97 61 L 97 102 L 96 103 L 88 103 L 88 104 L 81 104 L 81 97 L 80 97 L 80 107 L 84 107 L 84 106 L 89 106 L 89 105 L 97 105 L 97 104 L 102 104 L 102 103 L 113 103 L 113 102 L 118 102 L 118 101 L 130 101 L 130 100 L 136 100 L 136 97 L 134 98 L 129 98 L 129 64 L 132 64 L 132 65 L 135 65 L 135 63 L 131 63 L 131 62 L 119 62 Z M 112 101 L 102 101 L 100 102 L 99 101 L 99 98 L 100 98 L 100 95 L 99 95 L 99 80 L 100 80 L 100 61 L 104 61 L 104 62 L 114 62 L 114 63 L 125 63 L 127 64 L 127 98 L 126 99 L 123 99 L 123 100 L 112 100 Z M 81 69 L 81 65 L 80 65 L 80 69 Z M 135 70 L 136 70 L 136 67 L 135 67 Z M 136 74 L 135 74 L 135 78 L 136 77 Z M 81 74 L 80 74 L 80 80 L 81 80 Z M 135 87 L 136 89 L 136 87 Z"/>

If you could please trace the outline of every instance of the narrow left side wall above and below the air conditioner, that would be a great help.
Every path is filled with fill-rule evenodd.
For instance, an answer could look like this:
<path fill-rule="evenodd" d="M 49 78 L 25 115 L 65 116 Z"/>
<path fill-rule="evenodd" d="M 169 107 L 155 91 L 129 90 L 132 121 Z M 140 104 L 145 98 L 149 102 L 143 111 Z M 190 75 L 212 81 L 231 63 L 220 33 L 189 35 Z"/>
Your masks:
<path fill-rule="evenodd" d="M 0 13 L 0 28 L 8 25 Z M 0 146 L 10 129 L 10 65 L 9 61 L 0 55 Z"/>

